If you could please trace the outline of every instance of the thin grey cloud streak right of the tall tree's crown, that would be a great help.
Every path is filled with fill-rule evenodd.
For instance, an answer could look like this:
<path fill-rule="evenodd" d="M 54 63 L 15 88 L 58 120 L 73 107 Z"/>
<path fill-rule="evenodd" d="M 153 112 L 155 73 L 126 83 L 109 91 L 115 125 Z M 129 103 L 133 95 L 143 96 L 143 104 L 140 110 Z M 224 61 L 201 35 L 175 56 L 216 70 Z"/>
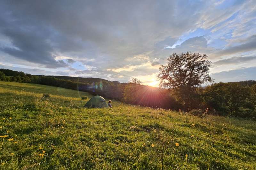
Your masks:
<path fill-rule="evenodd" d="M 212 66 L 220 66 L 220 65 L 226 65 L 226 64 L 241 64 L 241 63 L 250 62 L 252 60 L 256 60 L 256 56 L 231 57 L 228 59 L 218 60 L 212 63 Z"/>

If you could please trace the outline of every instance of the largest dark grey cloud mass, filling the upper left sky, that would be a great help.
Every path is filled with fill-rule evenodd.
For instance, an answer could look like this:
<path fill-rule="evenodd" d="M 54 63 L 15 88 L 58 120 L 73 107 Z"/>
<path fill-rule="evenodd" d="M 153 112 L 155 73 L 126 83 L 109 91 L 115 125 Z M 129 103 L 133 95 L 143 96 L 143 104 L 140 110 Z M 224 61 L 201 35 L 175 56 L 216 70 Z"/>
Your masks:
<path fill-rule="evenodd" d="M 171 37 L 191 29 L 199 18 L 195 10 L 201 9 L 200 3 L 184 4 L 180 6 L 175 1 L 6 1 L 0 9 L 0 32 L 10 38 L 13 47 L 4 47 L 2 51 L 51 68 L 67 67 L 54 60 L 59 53 L 77 58 L 97 56 L 98 61 L 111 56 L 121 62 L 127 55 L 151 50 L 158 41 L 166 37 L 166 41 L 171 41 Z M 188 18 L 191 13 L 194 17 Z M 180 16 L 177 18 L 177 15 Z"/>

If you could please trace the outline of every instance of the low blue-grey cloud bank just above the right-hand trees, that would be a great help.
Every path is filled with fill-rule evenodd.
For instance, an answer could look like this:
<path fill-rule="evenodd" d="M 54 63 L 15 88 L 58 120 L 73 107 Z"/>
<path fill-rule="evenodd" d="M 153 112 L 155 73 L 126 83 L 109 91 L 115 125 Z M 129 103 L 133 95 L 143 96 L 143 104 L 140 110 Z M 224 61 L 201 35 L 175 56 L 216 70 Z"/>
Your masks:
<path fill-rule="evenodd" d="M 211 74 L 215 82 L 256 80 L 256 67 L 240 68 Z"/>

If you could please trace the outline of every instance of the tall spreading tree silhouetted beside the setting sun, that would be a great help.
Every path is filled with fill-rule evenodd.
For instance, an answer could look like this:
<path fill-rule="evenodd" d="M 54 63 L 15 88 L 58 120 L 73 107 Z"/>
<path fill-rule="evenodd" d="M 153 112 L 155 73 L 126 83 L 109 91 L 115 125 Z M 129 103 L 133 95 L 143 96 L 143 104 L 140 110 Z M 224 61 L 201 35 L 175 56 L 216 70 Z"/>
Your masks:
<path fill-rule="evenodd" d="M 214 81 L 209 75 L 212 63 L 206 59 L 206 54 L 173 53 L 167 59 L 167 65 L 159 67 L 159 86 L 172 89 L 189 108 L 196 96 L 196 88 Z"/>

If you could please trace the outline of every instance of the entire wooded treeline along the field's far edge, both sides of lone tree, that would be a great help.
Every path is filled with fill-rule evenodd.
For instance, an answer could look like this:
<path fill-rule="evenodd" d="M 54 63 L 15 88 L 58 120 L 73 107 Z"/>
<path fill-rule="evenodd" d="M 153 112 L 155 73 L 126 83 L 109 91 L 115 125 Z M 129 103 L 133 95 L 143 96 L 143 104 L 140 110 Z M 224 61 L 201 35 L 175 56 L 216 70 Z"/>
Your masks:
<path fill-rule="evenodd" d="M 180 96 L 171 90 L 160 89 L 136 83 L 92 82 L 82 83 L 55 78 L 35 76 L 21 71 L 0 69 L 1 81 L 14 81 L 51 85 L 73 90 L 90 92 L 124 103 L 159 107 L 172 110 L 201 111 L 208 108 L 212 114 L 256 118 L 256 81 L 215 83 L 205 88 L 199 87 L 188 107 Z M 84 81 L 85 82 L 85 81 Z"/>

